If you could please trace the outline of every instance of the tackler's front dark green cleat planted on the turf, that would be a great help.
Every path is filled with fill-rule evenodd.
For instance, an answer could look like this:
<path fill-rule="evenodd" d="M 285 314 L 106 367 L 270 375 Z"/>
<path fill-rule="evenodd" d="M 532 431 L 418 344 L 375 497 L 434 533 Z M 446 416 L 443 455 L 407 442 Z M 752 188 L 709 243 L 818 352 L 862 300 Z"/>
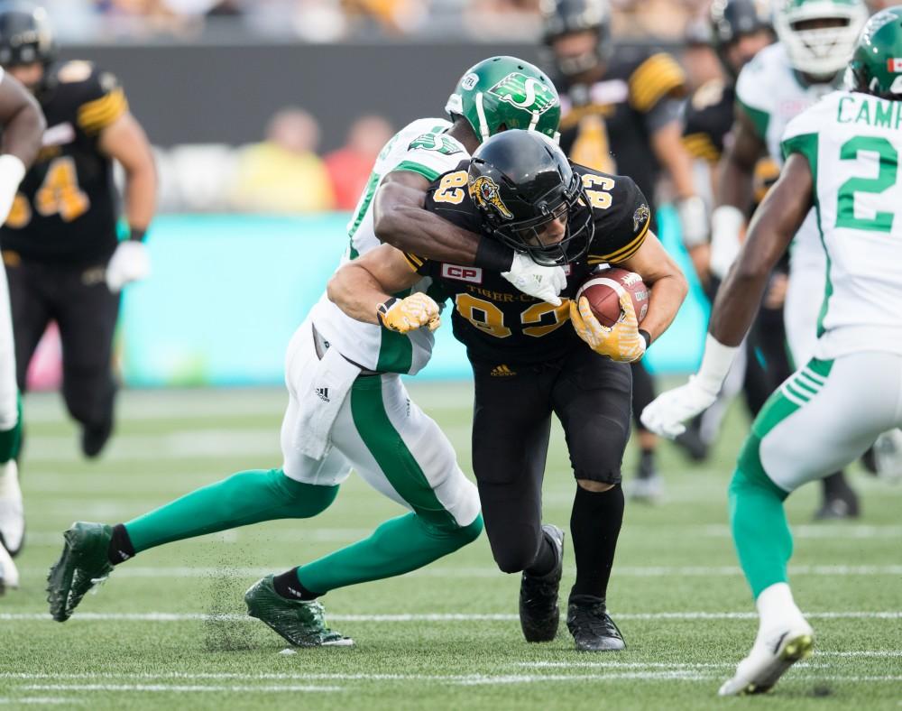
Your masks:
<path fill-rule="evenodd" d="M 326 609 L 317 600 L 289 600 L 276 592 L 272 575 L 244 593 L 247 614 L 267 624 L 296 647 L 350 647 L 354 640 L 326 626 Z"/>

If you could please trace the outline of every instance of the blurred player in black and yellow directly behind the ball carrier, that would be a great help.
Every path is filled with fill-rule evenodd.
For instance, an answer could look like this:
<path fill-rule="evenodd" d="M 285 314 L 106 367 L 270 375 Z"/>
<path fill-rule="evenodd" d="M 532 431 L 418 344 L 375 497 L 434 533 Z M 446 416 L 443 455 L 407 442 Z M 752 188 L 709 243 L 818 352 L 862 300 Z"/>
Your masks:
<path fill-rule="evenodd" d="M 673 182 L 686 245 L 704 242 L 704 201 L 695 194 L 692 159 L 680 141 L 683 70 L 667 53 L 615 47 L 607 0 L 548 0 L 542 10 L 563 95 L 561 147 L 580 165 L 629 175 L 652 202 L 663 169 Z M 638 418 L 654 398 L 654 383 L 641 361 L 632 374 L 641 454 L 630 493 L 653 500 L 661 490 L 656 438 Z"/>

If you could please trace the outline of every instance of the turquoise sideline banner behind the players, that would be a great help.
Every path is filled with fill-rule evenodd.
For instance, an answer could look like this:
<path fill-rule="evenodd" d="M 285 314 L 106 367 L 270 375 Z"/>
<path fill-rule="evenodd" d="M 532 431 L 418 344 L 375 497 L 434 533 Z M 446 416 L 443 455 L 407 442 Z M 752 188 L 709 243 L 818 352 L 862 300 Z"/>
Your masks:
<path fill-rule="evenodd" d="M 347 217 L 157 217 L 147 242 L 151 277 L 124 293 L 117 351 L 126 385 L 281 383 L 291 334 L 345 250 Z M 693 288 L 648 360 L 656 372 L 688 372 L 701 357 L 708 305 L 673 211 L 662 209 L 658 222 Z M 450 324 L 436 336 L 435 356 L 417 377 L 469 378 Z"/>

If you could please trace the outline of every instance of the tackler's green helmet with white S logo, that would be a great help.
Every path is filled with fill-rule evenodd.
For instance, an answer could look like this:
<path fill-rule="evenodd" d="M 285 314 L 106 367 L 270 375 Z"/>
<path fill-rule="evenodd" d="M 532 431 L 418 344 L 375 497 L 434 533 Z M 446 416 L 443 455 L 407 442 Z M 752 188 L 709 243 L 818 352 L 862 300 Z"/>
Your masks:
<path fill-rule="evenodd" d="M 516 57 L 490 57 L 467 69 L 446 113 L 463 116 L 480 142 L 506 128 L 538 131 L 557 141 L 561 103 L 544 72 Z"/>

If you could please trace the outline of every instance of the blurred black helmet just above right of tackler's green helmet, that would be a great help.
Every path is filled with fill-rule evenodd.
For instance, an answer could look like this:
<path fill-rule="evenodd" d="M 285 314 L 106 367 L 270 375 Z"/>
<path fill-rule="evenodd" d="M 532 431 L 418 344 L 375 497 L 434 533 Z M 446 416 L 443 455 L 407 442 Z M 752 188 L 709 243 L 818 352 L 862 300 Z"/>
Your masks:
<path fill-rule="evenodd" d="M 606 62 L 612 53 L 611 6 L 608 0 L 542 0 L 545 44 L 574 32 L 595 32 L 594 51 L 578 57 L 559 57 L 552 51 L 557 70 L 573 77 Z"/>

